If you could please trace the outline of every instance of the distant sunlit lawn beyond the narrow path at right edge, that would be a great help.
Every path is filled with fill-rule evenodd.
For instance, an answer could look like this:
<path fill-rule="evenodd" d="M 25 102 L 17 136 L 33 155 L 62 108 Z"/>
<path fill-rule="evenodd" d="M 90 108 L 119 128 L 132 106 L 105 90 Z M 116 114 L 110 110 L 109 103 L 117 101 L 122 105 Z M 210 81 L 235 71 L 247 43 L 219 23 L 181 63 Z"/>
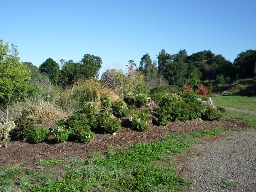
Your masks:
<path fill-rule="evenodd" d="M 218 96 L 212 97 L 212 100 L 215 106 L 225 106 L 256 111 L 256 97 Z"/>

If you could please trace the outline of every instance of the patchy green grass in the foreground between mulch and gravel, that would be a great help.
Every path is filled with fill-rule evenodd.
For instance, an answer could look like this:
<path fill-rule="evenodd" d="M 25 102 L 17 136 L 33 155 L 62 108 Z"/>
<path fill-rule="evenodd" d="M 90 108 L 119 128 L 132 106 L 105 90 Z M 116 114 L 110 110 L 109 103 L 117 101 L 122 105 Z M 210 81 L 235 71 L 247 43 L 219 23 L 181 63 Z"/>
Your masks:
<path fill-rule="evenodd" d="M 175 174 L 172 156 L 197 143 L 202 135 L 224 130 L 200 130 L 170 135 L 150 144 L 134 144 L 127 150 L 92 154 L 87 160 L 41 160 L 37 168 L 0 168 L 0 191 L 31 192 L 171 192 L 190 184 Z"/>

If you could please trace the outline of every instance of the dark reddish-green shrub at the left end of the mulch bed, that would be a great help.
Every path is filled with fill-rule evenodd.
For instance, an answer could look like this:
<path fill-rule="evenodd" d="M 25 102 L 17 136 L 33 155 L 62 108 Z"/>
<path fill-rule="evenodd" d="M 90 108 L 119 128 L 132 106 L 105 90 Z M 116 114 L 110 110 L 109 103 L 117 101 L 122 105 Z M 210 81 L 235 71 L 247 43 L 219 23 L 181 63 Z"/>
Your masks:
<path fill-rule="evenodd" d="M 23 111 L 22 116 L 15 122 L 16 128 L 12 130 L 11 137 L 15 139 L 28 138 L 28 133 L 24 132 L 34 126 L 34 119 L 28 118 L 28 111 Z M 27 130 L 28 131 L 28 130 Z"/>

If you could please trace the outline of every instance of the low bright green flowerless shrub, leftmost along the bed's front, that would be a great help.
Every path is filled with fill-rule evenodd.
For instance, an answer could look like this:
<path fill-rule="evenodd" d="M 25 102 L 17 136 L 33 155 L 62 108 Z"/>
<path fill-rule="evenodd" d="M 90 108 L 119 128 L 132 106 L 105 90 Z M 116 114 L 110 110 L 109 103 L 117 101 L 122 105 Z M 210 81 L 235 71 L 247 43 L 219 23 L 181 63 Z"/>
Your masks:
<path fill-rule="evenodd" d="M 48 139 L 50 135 L 50 131 L 47 128 L 34 126 L 31 129 L 30 138 L 34 141 L 34 143 L 40 143 Z"/>

